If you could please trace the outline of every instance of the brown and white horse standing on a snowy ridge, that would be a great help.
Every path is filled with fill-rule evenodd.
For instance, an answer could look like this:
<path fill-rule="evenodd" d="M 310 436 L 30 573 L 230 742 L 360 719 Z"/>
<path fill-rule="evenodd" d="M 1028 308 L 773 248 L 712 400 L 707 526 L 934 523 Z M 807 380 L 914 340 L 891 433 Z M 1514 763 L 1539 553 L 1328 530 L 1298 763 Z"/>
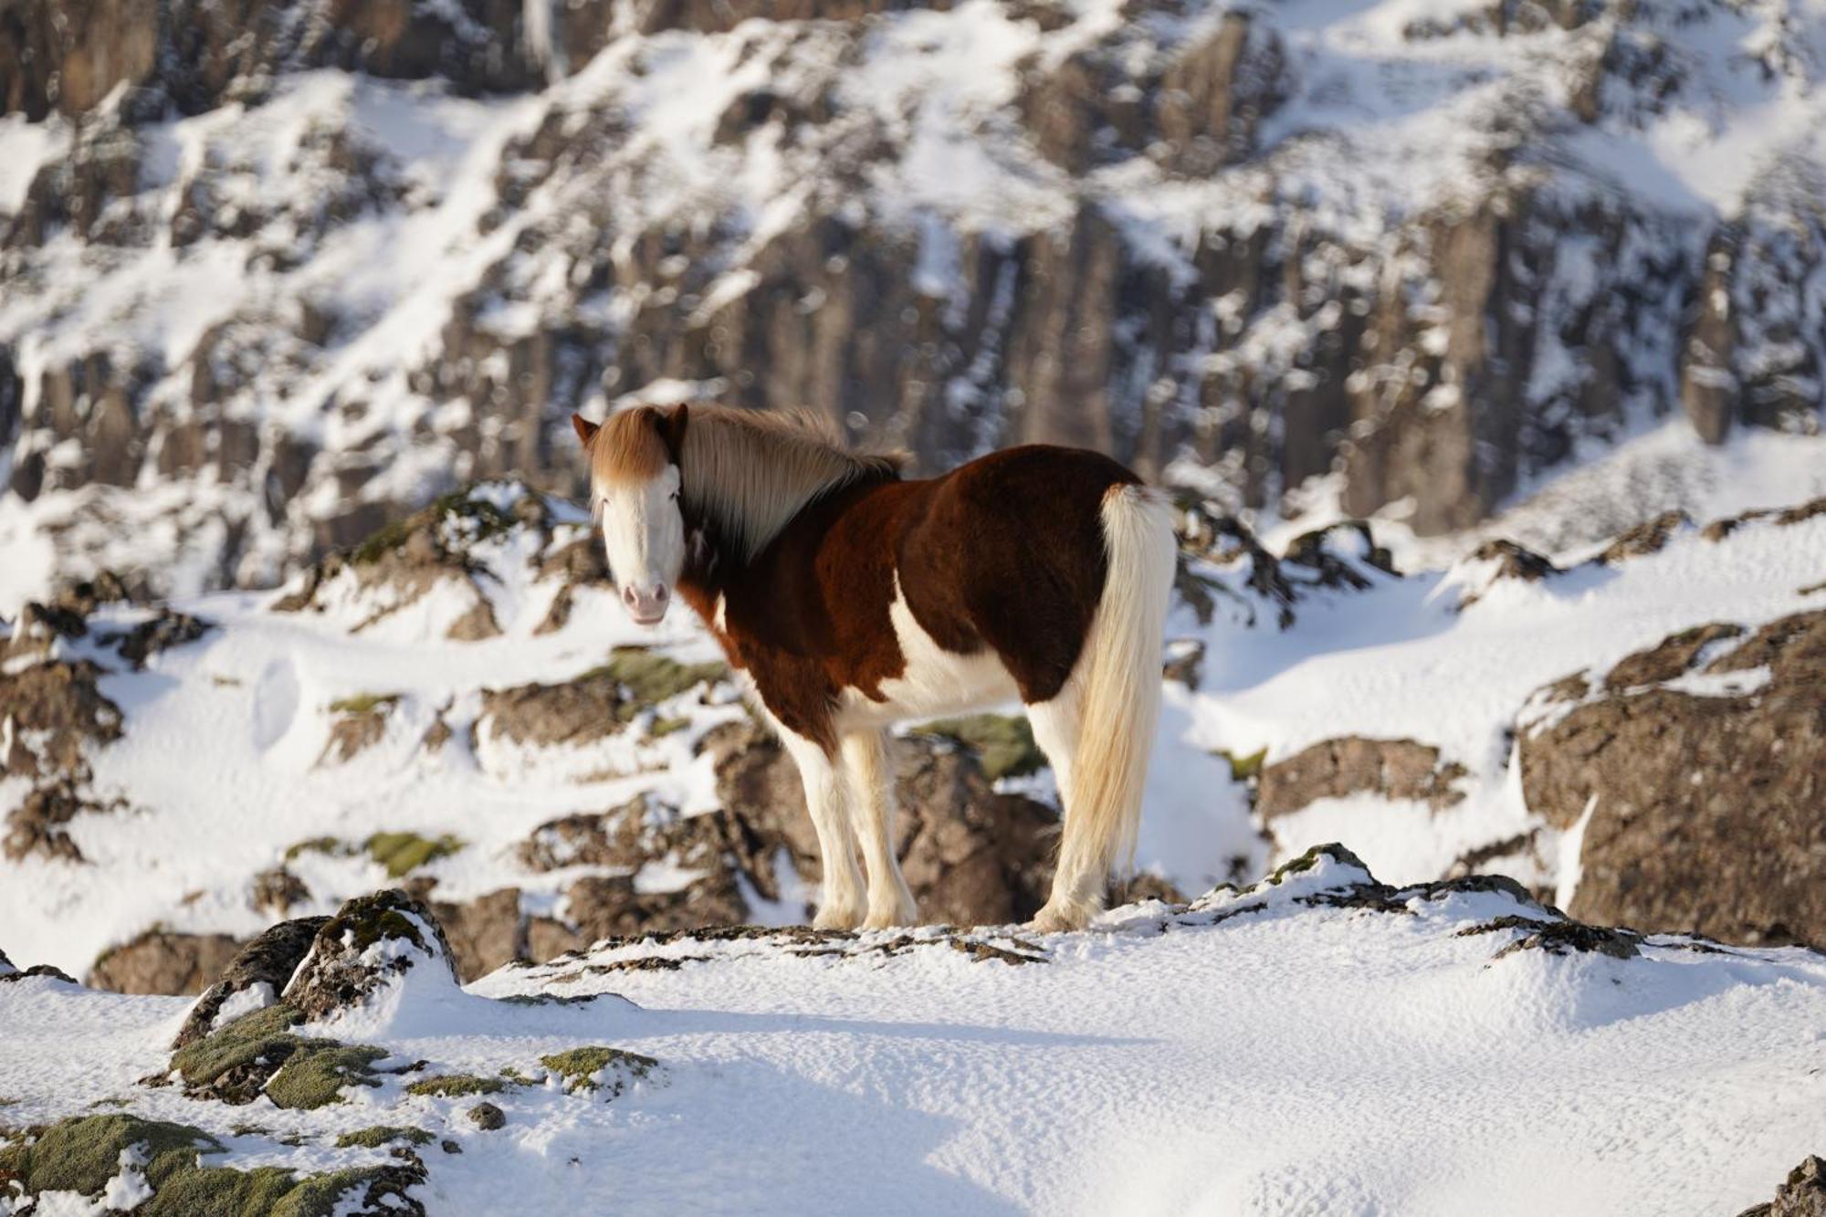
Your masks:
<path fill-rule="evenodd" d="M 798 764 L 816 928 L 911 925 L 886 731 L 1021 698 L 1065 824 L 1034 930 L 1076 930 L 1132 864 L 1174 532 L 1116 460 L 1032 444 L 942 477 L 807 418 L 723 406 L 572 415 L 630 618 L 687 601 Z M 867 868 L 864 895 L 856 853 Z"/>

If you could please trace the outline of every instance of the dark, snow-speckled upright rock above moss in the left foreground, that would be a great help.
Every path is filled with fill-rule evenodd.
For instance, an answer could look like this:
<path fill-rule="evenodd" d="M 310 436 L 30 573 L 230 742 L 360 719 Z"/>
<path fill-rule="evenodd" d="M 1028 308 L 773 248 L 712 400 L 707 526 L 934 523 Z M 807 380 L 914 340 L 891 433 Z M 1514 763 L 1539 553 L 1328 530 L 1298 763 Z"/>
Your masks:
<path fill-rule="evenodd" d="M 413 968 L 456 983 L 451 948 L 436 917 L 400 890 L 358 895 L 325 921 L 285 989 L 309 1021 L 371 1001 Z"/>

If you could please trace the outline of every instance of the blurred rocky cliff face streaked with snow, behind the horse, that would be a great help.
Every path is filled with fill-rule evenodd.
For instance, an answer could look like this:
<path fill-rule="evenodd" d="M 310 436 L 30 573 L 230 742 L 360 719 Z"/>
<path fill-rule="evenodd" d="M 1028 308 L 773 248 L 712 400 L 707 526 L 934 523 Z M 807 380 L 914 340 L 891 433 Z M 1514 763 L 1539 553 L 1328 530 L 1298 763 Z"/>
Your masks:
<path fill-rule="evenodd" d="M 707 393 L 1452 530 L 1653 417 L 1817 429 L 1821 26 L 15 5 L 0 475 L 66 568 L 270 581 L 456 481 L 577 493 L 572 409 Z"/>

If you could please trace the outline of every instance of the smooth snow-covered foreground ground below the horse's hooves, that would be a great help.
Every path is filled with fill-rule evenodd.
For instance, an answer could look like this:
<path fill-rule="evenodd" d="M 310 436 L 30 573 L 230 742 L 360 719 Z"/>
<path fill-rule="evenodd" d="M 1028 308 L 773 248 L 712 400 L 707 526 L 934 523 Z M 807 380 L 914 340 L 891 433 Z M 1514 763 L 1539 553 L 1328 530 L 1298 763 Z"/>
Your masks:
<path fill-rule="evenodd" d="M 513 1085 L 491 1133 L 398 1078 L 310 1113 L 135 1087 L 184 1000 L 24 979 L 0 985 L 4 1118 L 130 1098 L 217 1133 L 223 1164 L 294 1169 L 424 1127 L 462 1149 L 420 1151 L 433 1213 L 1733 1213 L 1819 1148 L 1815 954 L 1505 950 L 1552 915 L 1503 892 L 1324 903 L 1366 879 L 1320 855 L 1185 912 L 975 936 L 1019 965 L 937 932 L 617 947 L 466 1000 L 407 987 L 352 1036 L 427 1073 L 537 1076 L 584 1043 L 659 1062 L 615 1098 Z M 484 1000 L 528 992 L 634 1005 Z"/>

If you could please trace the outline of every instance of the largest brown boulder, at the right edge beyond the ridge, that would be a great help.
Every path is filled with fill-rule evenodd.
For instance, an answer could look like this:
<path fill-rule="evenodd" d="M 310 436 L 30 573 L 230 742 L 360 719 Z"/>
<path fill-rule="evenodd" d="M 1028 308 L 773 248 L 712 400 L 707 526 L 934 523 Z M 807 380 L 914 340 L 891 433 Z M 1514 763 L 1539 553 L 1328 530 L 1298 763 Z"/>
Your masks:
<path fill-rule="evenodd" d="M 1707 660 L 1738 632 L 1685 630 L 1618 663 L 1598 693 L 1561 689 L 1583 700 L 1537 694 L 1519 733 L 1528 808 L 1556 828 L 1589 810 L 1574 915 L 1727 943 L 1826 941 L 1826 612 L 1771 621 Z"/>

